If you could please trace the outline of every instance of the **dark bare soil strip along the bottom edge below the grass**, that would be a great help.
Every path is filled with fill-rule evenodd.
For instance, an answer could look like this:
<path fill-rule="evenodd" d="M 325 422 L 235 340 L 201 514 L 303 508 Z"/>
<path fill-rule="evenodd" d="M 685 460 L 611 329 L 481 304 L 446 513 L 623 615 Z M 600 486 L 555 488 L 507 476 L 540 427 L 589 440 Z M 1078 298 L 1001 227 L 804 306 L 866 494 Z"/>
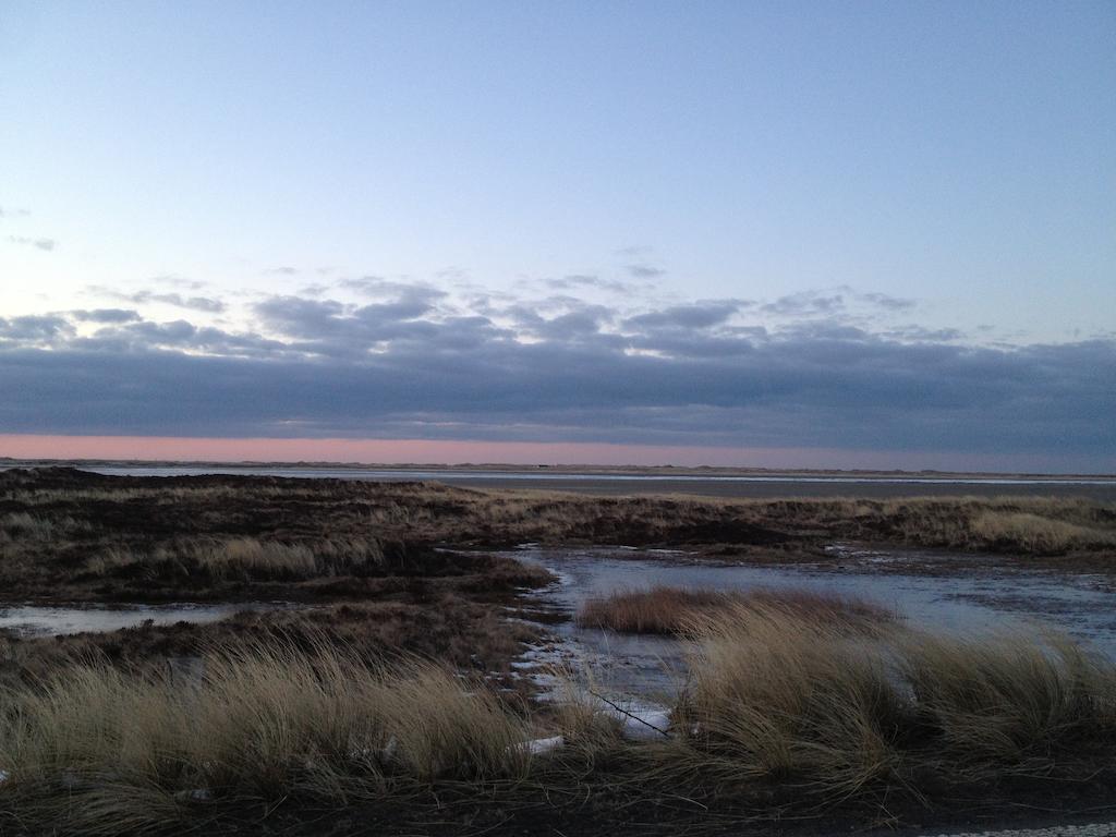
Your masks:
<path fill-rule="evenodd" d="M 195 804 L 191 821 L 199 833 L 260 837 L 913 837 L 1066 826 L 1116 816 L 1112 771 L 1076 782 L 1012 779 L 982 788 L 979 798 L 933 788 L 923 799 L 906 793 L 819 805 L 804 804 L 793 788 L 733 790 L 722 795 L 701 785 L 648 782 L 645 773 L 628 775 L 623 764 L 600 764 L 577 785 L 497 787 L 488 792 L 443 786 L 416 790 L 402 800 L 340 807 L 297 798 L 278 806 Z"/>

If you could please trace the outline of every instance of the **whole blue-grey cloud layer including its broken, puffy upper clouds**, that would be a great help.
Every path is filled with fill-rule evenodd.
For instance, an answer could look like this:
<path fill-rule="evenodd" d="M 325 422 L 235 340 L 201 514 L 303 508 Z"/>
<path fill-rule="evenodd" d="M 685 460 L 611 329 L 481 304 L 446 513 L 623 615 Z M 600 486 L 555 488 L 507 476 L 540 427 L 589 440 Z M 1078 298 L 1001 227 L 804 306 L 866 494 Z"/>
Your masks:
<path fill-rule="evenodd" d="M 914 300 L 848 288 L 645 309 L 576 296 L 602 286 L 566 277 L 463 302 L 363 277 L 259 298 L 238 327 L 134 308 L 0 319 L 0 431 L 1116 459 L 1112 339 L 978 344 L 911 321 Z"/>

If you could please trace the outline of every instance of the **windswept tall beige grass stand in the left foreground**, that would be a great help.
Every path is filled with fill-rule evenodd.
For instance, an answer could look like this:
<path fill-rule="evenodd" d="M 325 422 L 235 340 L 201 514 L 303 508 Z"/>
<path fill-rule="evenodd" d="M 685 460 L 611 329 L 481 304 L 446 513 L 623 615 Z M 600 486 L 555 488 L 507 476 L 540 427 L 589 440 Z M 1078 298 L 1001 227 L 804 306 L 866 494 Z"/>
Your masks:
<path fill-rule="evenodd" d="M 0 800 L 83 833 L 157 828 L 210 795 L 345 801 L 514 780 L 528 760 L 526 722 L 491 691 L 324 646 L 213 653 L 195 683 L 84 665 L 0 708 Z"/>

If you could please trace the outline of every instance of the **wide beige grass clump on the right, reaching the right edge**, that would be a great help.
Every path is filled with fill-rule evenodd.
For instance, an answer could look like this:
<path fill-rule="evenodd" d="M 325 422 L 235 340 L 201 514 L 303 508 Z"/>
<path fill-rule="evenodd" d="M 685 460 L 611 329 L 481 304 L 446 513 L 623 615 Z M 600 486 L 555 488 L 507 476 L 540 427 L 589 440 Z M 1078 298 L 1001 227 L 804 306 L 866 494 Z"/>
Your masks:
<path fill-rule="evenodd" d="M 1116 665 L 1066 637 L 850 635 L 768 605 L 728 608 L 694 637 L 676 760 L 720 785 L 918 793 L 927 779 L 1088 775 L 1116 745 Z"/>

